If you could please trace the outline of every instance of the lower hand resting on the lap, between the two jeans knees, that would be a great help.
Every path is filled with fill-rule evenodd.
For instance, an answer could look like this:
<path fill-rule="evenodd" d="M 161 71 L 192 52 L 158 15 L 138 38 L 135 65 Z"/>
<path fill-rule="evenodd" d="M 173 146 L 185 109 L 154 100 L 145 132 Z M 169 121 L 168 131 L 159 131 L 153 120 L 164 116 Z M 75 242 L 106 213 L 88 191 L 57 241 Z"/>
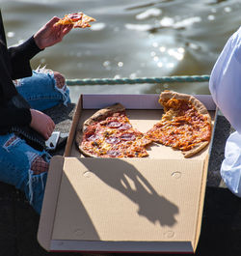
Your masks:
<path fill-rule="evenodd" d="M 47 140 L 55 128 L 53 120 L 39 110 L 30 109 L 30 112 L 32 116 L 30 127 L 37 130 Z"/>

